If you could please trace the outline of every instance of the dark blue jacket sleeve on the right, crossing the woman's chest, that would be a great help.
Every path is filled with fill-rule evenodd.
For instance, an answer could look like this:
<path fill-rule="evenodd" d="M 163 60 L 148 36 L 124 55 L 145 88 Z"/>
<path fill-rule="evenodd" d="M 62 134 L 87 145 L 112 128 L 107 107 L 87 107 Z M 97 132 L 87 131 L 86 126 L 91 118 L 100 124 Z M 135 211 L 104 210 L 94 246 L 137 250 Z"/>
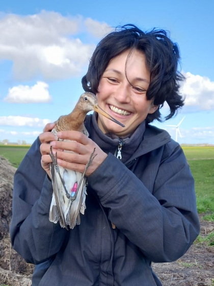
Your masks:
<path fill-rule="evenodd" d="M 183 151 L 175 144 L 163 148 L 159 163 L 154 153 L 142 175 L 109 154 L 88 178 L 109 220 L 155 263 L 181 257 L 200 231 L 194 179 Z"/>

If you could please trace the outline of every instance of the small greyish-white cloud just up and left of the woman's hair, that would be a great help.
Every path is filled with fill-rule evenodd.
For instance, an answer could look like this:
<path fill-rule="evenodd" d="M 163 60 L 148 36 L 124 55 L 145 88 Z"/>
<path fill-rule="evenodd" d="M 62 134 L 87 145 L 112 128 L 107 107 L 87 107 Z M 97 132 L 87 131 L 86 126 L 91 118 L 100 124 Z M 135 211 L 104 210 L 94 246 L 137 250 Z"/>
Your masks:
<path fill-rule="evenodd" d="M 97 38 L 102 38 L 113 30 L 107 23 L 100 23 L 92 18 L 87 18 L 84 23 L 87 31 Z"/>

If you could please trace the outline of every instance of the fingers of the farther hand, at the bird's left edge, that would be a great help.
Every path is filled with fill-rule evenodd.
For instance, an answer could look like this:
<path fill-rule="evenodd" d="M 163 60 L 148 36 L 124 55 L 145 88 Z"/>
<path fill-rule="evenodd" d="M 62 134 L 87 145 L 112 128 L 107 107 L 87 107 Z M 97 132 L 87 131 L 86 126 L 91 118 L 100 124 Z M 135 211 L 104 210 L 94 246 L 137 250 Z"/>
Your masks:
<path fill-rule="evenodd" d="M 41 141 L 41 145 L 40 145 L 40 152 L 41 152 L 41 165 L 42 168 L 46 171 L 46 173 L 48 174 L 48 176 L 51 179 L 51 175 L 50 175 L 50 163 L 52 162 L 51 158 L 50 158 L 50 141 L 52 140 L 56 140 L 55 135 L 53 135 L 53 133 L 51 133 L 50 131 L 55 127 L 55 123 L 48 123 L 44 129 L 43 129 L 43 133 L 41 133 L 39 135 L 39 139 Z M 56 152 L 56 150 L 53 149 L 53 152 Z"/>

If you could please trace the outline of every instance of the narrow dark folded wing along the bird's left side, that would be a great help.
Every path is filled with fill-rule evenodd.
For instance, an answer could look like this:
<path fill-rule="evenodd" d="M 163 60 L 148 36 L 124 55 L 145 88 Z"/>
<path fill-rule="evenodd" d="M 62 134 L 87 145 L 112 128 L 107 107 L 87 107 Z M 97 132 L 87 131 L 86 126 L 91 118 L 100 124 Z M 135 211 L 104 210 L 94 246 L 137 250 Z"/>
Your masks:
<path fill-rule="evenodd" d="M 62 209 L 62 201 L 61 201 L 61 196 L 59 194 L 59 187 L 57 185 L 57 176 L 59 177 L 59 173 L 56 171 L 56 166 L 53 165 L 52 163 L 50 164 L 50 173 L 51 173 L 51 178 L 52 178 L 52 186 L 53 186 L 53 196 L 55 196 L 56 204 L 59 210 L 60 214 L 60 225 L 61 227 L 67 228 L 63 209 Z M 59 178 L 60 180 L 60 178 Z"/>

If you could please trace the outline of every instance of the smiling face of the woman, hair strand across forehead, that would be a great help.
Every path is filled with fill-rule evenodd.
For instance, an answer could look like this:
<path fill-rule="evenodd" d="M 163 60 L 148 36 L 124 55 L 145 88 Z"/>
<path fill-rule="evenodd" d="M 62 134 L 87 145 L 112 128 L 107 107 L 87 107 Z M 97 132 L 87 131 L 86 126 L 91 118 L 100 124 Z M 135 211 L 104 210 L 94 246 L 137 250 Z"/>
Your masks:
<path fill-rule="evenodd" d="M 120 137 L 132 134 L 148 113 L 153 113 L 158 108 L 152 100 L 146 98 L 150 73 L 144 54 L 134 50 L 126 63 L 129 52 L 130 50 L 125 51 L 109 62 L 96 94 L 98 105 L 125 125 L 121 127 L 98 114 L 99 128 L 103 133 L 112 132 Z"/>

